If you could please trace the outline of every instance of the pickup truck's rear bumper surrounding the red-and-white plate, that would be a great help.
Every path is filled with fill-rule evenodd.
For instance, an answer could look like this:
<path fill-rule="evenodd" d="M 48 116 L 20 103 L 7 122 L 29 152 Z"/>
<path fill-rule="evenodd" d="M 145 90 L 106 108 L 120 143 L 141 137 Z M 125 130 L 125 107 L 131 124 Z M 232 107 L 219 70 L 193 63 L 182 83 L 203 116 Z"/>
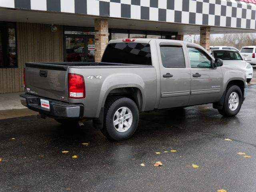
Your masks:
<path fill-rule="evenodd" d="M 48 100 L 50 109 L 41 107 L 40 99 Z M 68 104 L 30 94 L 21 94 L 20 101 L 27 108 L 52 118 L 81 118 L 84 113 L 82 104 Z"/>

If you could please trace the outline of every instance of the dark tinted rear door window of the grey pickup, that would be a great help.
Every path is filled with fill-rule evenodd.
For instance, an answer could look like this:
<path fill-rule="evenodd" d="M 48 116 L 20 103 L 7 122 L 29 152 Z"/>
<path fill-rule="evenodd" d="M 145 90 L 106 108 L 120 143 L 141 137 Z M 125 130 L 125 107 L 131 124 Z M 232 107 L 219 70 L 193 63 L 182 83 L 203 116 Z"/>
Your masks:
<path fill-rule="evenodd" d="M 160 46 L 162 64 L 165 68 L 185 68 L 181 46 Z"/>

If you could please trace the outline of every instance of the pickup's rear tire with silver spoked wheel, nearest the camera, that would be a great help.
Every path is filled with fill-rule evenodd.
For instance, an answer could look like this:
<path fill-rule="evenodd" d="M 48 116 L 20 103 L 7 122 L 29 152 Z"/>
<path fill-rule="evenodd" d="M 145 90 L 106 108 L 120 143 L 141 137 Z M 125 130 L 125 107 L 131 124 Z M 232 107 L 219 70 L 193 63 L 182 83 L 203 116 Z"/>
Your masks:
<path fill-rule="evenodd" d="M 108 98 L 105 104 L 102 134 L 109 140 L 130 138 L 137 129 L 139 110 L 136 103 L 126 97 Z"/>

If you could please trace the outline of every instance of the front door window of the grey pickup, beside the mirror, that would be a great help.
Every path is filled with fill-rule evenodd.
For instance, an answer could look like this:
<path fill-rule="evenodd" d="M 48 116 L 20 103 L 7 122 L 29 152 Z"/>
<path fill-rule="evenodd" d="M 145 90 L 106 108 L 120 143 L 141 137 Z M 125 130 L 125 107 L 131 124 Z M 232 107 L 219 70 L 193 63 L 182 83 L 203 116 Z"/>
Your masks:
<path fill-rule="evenodd" d="M 188 47 L 191 68 L 212 68 L 212 61 L 203 50 L 196 47 Z"/>

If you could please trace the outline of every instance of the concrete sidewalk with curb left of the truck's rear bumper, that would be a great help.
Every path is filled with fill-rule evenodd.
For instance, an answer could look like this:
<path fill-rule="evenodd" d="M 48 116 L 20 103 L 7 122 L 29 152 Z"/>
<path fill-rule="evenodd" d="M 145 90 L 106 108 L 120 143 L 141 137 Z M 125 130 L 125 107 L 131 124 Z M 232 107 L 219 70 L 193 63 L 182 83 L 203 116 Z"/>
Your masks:
<path fill-rule="evenodd" d="M 20 103 L 22 93 L 24 92 L 0 94 L 0 119 L 38 114 Z"/>

